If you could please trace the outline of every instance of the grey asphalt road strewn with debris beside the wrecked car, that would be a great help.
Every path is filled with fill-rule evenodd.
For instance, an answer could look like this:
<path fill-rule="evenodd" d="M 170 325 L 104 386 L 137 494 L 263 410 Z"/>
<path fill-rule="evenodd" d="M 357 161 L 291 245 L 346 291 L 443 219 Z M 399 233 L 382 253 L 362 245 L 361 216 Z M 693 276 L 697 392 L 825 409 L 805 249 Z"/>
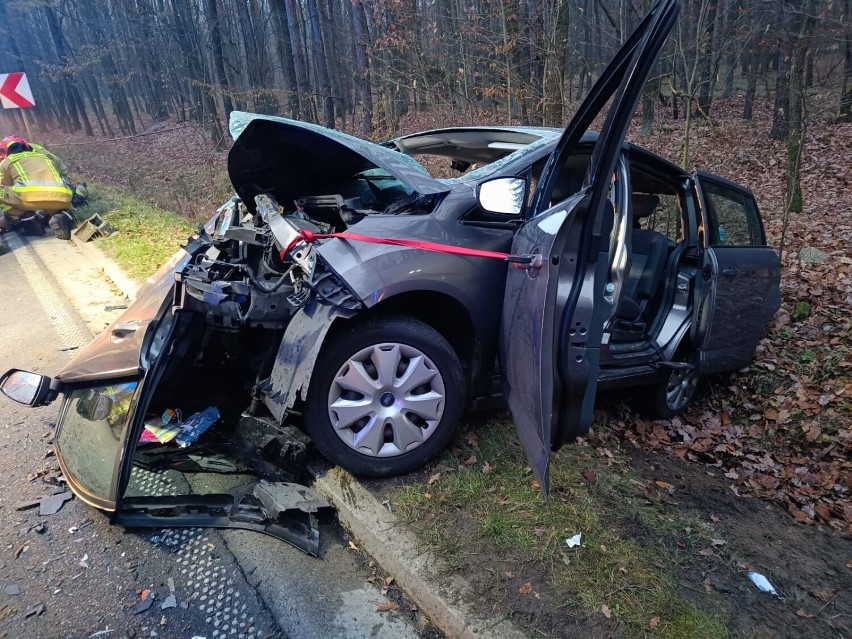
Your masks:
<path fill-rule="evenodd" d="M 30 240 L 7 235 L 0 255 L 0 372 L 50 374 L 121 312 L 107 307 L 128 302 L 89 253 Z M 336 525 L 315 559 L 246 531 L 125 531 L 76 499 L 53 515 L 18 510 L 64 490 L 51 443 L 58 410 L 0 398 L 0 638 L 417 636 L 377 611 L 387 599 Z M 165 475 L 142 479 L 180 490 Z M 217 481 L 190 483 L 204 492 Z"/>

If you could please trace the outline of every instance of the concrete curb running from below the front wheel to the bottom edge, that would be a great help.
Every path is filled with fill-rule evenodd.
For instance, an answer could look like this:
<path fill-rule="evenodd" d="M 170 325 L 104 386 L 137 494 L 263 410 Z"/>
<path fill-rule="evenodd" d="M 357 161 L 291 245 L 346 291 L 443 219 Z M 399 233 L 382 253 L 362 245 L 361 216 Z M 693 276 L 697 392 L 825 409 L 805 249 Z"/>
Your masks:
<path fill-rule="evenodd" d="M 338 467 L 312 467 L 309 473 L 314 477 L 314 490 L 331 502 L 340 522 L 448 639 L 528 637 L 503 617 L 480 618 L 465 603 L 473 593 L 467 581 L 448 575 L 444 561 L 424 551 L 414 531 L 355 477 Z"/>

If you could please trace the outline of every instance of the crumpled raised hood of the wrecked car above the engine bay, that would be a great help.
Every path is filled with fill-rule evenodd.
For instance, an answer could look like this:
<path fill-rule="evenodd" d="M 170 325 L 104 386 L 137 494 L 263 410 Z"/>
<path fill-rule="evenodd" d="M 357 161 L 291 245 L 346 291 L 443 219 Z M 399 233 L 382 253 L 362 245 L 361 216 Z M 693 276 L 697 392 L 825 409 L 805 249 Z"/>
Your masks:
<path fill-rule="evenodd" d="M 234 145 L 228 175 L 250 208 L 259 193 L 288 202 L 308 193 L 330 193 L 336 182 L 375 169 L 421 195 L 450 190 L 403 153 L 316 124 L 234 111 L 230 130 Z"/>

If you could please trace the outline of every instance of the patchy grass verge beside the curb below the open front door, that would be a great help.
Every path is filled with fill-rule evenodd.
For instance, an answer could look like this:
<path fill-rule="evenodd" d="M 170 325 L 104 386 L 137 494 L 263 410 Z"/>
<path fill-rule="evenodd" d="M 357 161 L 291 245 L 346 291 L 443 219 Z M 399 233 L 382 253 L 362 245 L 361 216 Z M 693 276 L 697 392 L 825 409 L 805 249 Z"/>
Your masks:
<path fill-rule="evenodd" d="M 696 592 L 700 579 L 692 592 L 681 583 L 711 547 L 710 529 L 677 513 L 668 485 L 572 447 L 554 455 L 547 503 L 511 421 L 493 419 L 457 441 L 427 481 L 393 489 L 392 499 L 450 569 L 490 573 L 477 590 L 490 589 L 491 601 L 522 623 L 558 608 L 611 625 L 614 636 L 730 636 L 715 595 Z M 582 547 L 568 548 L 578 532 Z"/>

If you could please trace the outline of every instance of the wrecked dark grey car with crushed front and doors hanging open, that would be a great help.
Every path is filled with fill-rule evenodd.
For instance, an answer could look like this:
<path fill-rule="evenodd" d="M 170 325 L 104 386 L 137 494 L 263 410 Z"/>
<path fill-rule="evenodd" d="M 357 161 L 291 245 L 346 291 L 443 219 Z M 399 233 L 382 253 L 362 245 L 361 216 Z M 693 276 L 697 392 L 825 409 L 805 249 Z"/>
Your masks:
<path fill-rule="evenodd" d="M 127 525 L 304 539 L 310 509 L 264 490 L 128 484 L 138 467 L 292 481 L 305 433 L 356 474 L 404 473 L 463 410 L 506 401 L 547 490 L 550 451 L 587 431 L 599 388 L 647 386 L 648 408 L 671 416 L 701 375 L 750 361 L 780 302 L 751 192 L 625 142 L 677 10 L 657 2 L 564 131 L 378 145 L 232 114 L 235 198 L 53 379 L 10 371 L 3 392 L 33 406 L 61 395 L 69 484 Z M 458 175 L 433 177 L 419 155 Z M 213 425 L 186 447 L 145 434 L 205 407 Z"/>

